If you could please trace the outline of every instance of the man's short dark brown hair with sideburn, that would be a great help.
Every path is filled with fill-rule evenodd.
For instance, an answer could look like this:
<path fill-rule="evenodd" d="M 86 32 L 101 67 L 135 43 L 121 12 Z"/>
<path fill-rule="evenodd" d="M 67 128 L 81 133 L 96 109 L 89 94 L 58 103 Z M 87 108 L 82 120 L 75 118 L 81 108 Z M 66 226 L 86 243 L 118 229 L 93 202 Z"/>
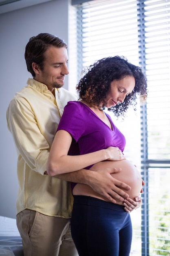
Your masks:
<path fill-rule="evenodd" d="M 40 33 L 29 39 L 29 42 L 25 47 L 25 61 L 27 70 L 33 77 L 35 77 L 35 72 L 33 71 L 32 63 L 37 63 L 40 66 L 40 69 L 43 70 L 45 60 L 44 53 L 51 46 L 57 48 L 65 47 L 67 49 L 67 45 L 64 40 L 49 33 Z"/>

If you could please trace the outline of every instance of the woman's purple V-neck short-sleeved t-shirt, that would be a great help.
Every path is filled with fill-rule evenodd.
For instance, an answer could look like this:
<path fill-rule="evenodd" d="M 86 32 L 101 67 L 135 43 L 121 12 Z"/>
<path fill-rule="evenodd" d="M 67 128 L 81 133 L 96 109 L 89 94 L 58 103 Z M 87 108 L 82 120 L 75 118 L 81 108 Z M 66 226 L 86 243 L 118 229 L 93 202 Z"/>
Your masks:
<path fill-rule="evenodd" d="M 66 130 L 73 137 L 68 155 L 83 155 L 110 146 L 118 147 L 123 152 L 125 137 L 113 124 L 110 116 L 105 114 L 112 129 L 84 103 L 80 101 L 67 103 L 57 130 Z M 86 169 L 90 167 L 86 166 Z"/>

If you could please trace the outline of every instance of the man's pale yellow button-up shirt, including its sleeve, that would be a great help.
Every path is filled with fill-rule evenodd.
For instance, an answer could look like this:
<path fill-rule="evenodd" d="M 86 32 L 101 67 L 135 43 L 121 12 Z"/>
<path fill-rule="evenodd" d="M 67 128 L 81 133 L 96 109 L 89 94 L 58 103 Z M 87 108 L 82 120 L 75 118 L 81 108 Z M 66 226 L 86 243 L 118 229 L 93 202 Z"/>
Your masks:
<path fill-rule="evenodd" d="M 7 125 L 18 153 L 19 191 L 17 213 L 24 209 L 48 216 L 70 218 L 73 196 L 69 182 L 44 175 L 49 150 L 64 106 L 77 97 L 64 88 L 55 89 L 28 79 L 7 109 Z"/>

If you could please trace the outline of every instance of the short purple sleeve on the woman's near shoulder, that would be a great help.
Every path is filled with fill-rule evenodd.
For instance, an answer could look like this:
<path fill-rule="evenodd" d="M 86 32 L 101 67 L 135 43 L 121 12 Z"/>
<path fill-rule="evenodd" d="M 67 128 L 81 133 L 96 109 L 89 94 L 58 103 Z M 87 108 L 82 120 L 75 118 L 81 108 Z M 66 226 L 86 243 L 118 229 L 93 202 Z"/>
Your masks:
<path fill-rule="evenodd" d="M 77 101 L 69 101 L 64 108 L 57 130 L 66 130 L 77 142 L 85 130 L 82 106 Z"/>

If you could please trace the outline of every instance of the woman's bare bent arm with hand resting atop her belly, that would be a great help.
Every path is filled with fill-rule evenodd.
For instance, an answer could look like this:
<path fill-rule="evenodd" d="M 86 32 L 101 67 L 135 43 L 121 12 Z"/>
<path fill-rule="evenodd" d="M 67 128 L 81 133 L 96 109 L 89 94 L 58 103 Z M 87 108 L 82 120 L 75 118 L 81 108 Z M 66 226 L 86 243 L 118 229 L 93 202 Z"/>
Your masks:
<path fill-rule="evenodd" d="M 84 155 L 68 155 L 71 142 L 72 137 L 68 132 L 65 130 L 57 131 L 47 162 L 46 171 L 50 176 L 78 171 L 104 160 L 114 161 L 125 158 L 121 150 L 115 147 L 108 147 Z"/>

